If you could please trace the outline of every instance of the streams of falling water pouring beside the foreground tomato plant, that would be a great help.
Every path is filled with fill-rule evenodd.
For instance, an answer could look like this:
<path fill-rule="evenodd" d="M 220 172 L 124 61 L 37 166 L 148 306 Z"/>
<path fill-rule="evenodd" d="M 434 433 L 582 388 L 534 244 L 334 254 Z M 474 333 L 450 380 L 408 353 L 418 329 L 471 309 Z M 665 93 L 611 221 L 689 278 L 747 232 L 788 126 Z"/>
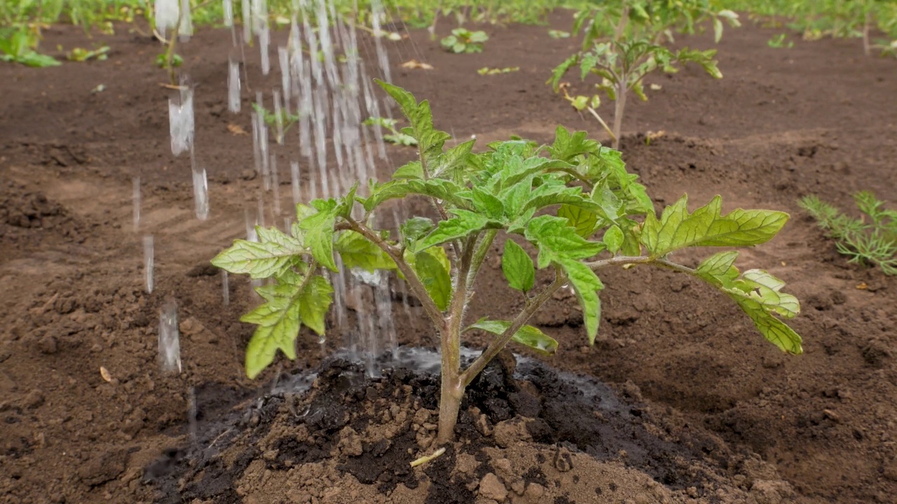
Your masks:
<path fill-rule="evenodd" d="M 266 224 L 266 204 L 271 212 L 271 222 L 283 222 L 289 231 L 292 212 L 282 215 L 281 174 L 278 157 L 288 155 L 290 166 L 289 183 L 292 204 L 307 203 L 319 197 L 344 195 L 356 182 L 359 193 L 367 190 L 367 180 L 377 177 L 376 160 L 387 160 L 383 132 L 380 126 L 365 126 L 367 117 L 379 117 L 381 110 L 390 114 L 388 101 L 383 93 L 375 93 L 370 74 L 390 81 L 389 59 L 382 37 L 375 36 L 373 53 L 375 59 L 365 65 L 360 51 L 359 35 L 354 22 L 344 22 L 336 15 L 333 0 L 294 0 L 294 14 L 290 22 L 286 44 L 278 46 L 268 23 L 266 0 L 242 0 L 242 38 L 234 26 L 233 0 L 222 0 L 224 24 L 231 27 L 233 47 L 228 57 L 227 103 L 231 114 L 239 114 L 242 100 L 248 86 L 244 85 L 248 73 L 243 51 L 244 42 L 257 43 L 262 74 L 270 72 L 270 53 L 276 51 L 279 83 L 270 90 L 255 89 L 250 101 L 257 109 L 249 108 L 253 159 L 257 174 L 261 178 L 261 193 L 258 196 L 257 211 L 245 211 L 246 236 L 249 241 L 257 241 L 255 226 Z M 180 35 L 185 39 L 192 34 L 190 15 L 187 9 L 181 13 L 178 25 L 178 6 L 189 4 L 188 0 L 156 0 L 157 16 L 161 30 Z M 173 5 L 173 6 L 172 6 Z M 381 23 L 386 19 L 383 5 L 373 2 L 371 16 L 373 31 L 384 34 Z M 176 26 L 177 25 L 177 26 Z M 366 36 L 365 36 L 366 37 Z M 239 39 L 239 43 L 238 43 Z M 367 44 L 366 39 L 362 41 Z M 251 44 L 255 45 L 255 44 Z M 275 48 L 271 48 L 274 45 Z M 239 47 L 238 47 L 239 46 Z M 369 48 L 370 46 L 365 46 Z M 237 50 L 239 48 L 239 51 Z M 240 56 L 236 56 L 239 53 Z M 243 78 L 240 76 L 243 65 Z M 209 216 L 208 178 L 202 162 L 196 159 L 194 142 L 194 88 L 186 77 L 182 77 L 181 87 L 169 102 L 171 152 L 179 156 L 189 152 L 193 177 L 195 213 L 199 220 Z M 380 100 L 384 100 L 383 103 Z M 266 104 L 269 110 L 264 112 Z M 272 121 L 270 117 L 274 117 Z M 284 121 L 290 120 L 287 124 Z M 295 120 L 296 130 L 292 126 Z M 271 121 L 273 124 L 269 124 Z M 371 131 L 371 129 L 373 131 Z M 295 132 L 295 133 L 292 133 Z M 288 135 L 292 133 L 292 135 Z M 274 135 L 274 144 L 269 136 Z M 290 148 L 290 146 L 298 148 Z M 298 153 L 289 154 L 288 152 Z M 210 167 L 214 169 L 214 167 Z M 285 182 L 285 181 L 284 181 Z M 292 196 L 292 197 L 291 197 Z M 135 230 L 140 222 L 140 180 L 134 181 Z M 359 210 L 359 209 L 356 209 Z M 362 213 L 355 217 L 361 219 Z M 405 209 L 396 207 L 390 213 L 391 225 L 406 217 Z M 382 216 L 372 216 L 372 225 L 382 228 L 387 224 Z M 145 258 L 149 257 L 149 258 Z M 408 304 L 405 282 L 399 281 L 387 272 L 373 274 L 358 268 L 346 271 L 340 257 L 339 273 L 331 274 L 334 287 L 333 316 L 335 325 L 331 331 L 344 336 L 344 348 L 340 352 L 353 360 L 365 362 L 369 375 L 377 375 L 384 362 L 383 355 L 398 359 L 396 324 L 393 314 L 393 300 L 402 300 L 405 316 L 413 320 Z M 152 237 L 144 238 L 144 261 L 146 265 L 147 291 L 152 291 Z M 231 302 L 231 291 L 226 272 L 222 272 L 222 303 Z M 261 281 L 252 281 L 259 287 Z M 253 291 L 253 302 L 259 302 Z M 354 312 L 351 316 L 350 309 Z M 179 372 L 179 333 L 177 305 L 166 303 L 160 314 L 159 354 L 162 369 Z M 326 352 L 326 340 L 319 338 L 322 352 Z"/>

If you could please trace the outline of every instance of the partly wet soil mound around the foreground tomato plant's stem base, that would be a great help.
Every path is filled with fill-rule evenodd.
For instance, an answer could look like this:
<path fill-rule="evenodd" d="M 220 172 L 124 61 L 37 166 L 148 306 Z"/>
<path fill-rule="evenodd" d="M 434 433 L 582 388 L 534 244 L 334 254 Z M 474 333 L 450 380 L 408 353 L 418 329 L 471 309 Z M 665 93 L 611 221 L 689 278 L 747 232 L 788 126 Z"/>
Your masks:
<path fill-rule="evenodd" d="M 301 378 L 301 377 L 294 377 Z M 281 387 L 283 388 L 283 387 Z M 436 448 L 439 377 L 366 378 L 323 363 L 308 391 L 257 397 L 147 467 L 158 502 L 778 502 L 787 482 L 700 428 L 656 417 L 637 387 L 512 356 L 471 386 Z M 208 420 L 208 419 L 207 419 Z M 598 497 L 601 496 L 601 497 Z"/>

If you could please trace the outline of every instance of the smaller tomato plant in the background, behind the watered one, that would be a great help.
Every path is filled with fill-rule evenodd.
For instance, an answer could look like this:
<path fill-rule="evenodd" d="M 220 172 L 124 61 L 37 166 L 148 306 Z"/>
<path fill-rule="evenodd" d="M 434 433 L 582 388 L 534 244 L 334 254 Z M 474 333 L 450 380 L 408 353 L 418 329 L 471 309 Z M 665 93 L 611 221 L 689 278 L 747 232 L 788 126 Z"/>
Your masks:
<path fill-rule="evenodd" d="M 695 24 L 705 18 L 713 20 L 717 40 L 722 37 L 723 19 L 738 25 L 736 13 L 713 11 L 709 0 L 611 0 L 601 6 L 588 6 L 576 14 L 573 24 L 574 33 L 584 33 L 582 50 L 554 68 L 548 83 L 555 92 L 563 91 L 574 109 L 588 110 L 611 136 L 612 146 L 617 149 L 629 92 L 648 100 L 642 83 L 646 75 L 658 68 L 674 73 L 676 65 L 696 63 L 714 78 L 722 77 L 713 59 L 715 49 L 674 51 L 664 46 L 673 40 L 675 30 L 692 32 Z M 599 94 L 571 96 L 568 86 L 562 85 L 564 75 L 576 66 L 579 66 L 580 80 L 585 81 L 589 75 L 601 79 L 596 84 L 597 90 L 614 101 L 613 128 L 597 112 L 601 103 Z"/>

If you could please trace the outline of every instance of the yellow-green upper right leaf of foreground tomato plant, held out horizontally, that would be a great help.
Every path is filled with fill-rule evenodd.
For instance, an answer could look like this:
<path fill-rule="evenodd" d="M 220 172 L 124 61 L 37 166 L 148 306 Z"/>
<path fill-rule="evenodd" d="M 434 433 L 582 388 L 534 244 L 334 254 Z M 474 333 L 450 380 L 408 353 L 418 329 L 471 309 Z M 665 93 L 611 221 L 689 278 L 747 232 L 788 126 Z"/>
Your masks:
<path fill-rule="evenodd" d="M 658 220 L 648 213 L 641 230 L 641 243 L 653 256 L 664 256 L 686 247 L 738 247 L 758 245 L 774 237 L 788 213 L 772 210 L 736 209 L 722 215 L 719 196 L 688 213 L 688 197 L 667 206 Z"/>

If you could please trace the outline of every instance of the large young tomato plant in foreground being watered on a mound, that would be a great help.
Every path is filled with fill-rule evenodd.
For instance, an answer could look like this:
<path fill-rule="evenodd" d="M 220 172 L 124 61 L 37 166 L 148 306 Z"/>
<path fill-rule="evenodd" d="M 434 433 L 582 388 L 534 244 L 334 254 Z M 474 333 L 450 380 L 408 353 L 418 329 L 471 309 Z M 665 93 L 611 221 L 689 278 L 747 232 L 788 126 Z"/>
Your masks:
<path fill-rule="evenodd" d="M 472 151 L 474 140 L 444 149 L 450 136 L 433 127 L 430 105 L 411 93 L 380 83 L 398 102 L 418 142 L 419 159 L 396 169 L 392 179 L 370 183 L 369 196 L 354 187 L 338 199 L 297 206 L 290 233 L 258 228 L 258 241 L 236 240 L 212 263 L 254 279 L 274 278 L 257 289 L 266 300 L 242 317 L 256 324 L 248 343 L 246 369 L 255 377 L 280 349 L 296 357 L 300 325 L 324 333 L 331 303 L 325 270 L 345 267 L 397 270 L 440 336 L 440 442 L 453 439 L 465 389 L 510 342 L 554 352 L 557 342 L 527 321 L 554 291 L 570 285 L 582 306 L 589 343 L 598 336 L 604 287 L 597 272 L 612 266 L 650 265 L 689 274 L 710 283 L 742 308 L 771 343 L 801 353 L 801 339 L 780 318 L 797 315 L 797 299 L 781 291 L 783 282 L 762 270 L 740 273 L 738 253 L 714 254 L 696 268 L 675 263 L 676 251 L 694 247 L 761 244 L 775 236 L 788 214 L 769 210 L 721 212 L 717 196 L 689 212 L 683 196 L 658 215 L 651 199 L 628 173 L 620 152 L 558 127 L 554 142 L 538 146 L 522 140 L 489 144 Z M 438 219 L 413 217 L 397 234 L 372 227 L 381 204 L 408 196 L 428 198 Z M 480 268 L 492 242 L 504 233 L 501 269 L 525 308 L 509 320 L 481 319 L 466 326 L 465 314 Z M 597 239 L 600 237 L 600 239 Z M 519 242 L 537 250 L 534 261 Z M 450 259 L 449 259 L 450 258 Z M 547 270 L 553 282 L 536 282 Z M 780 318 L 779 318 L 780 317 Z M 462 368 L 460 348 L 468 329 L 495 337 L 482 354 Z"/>

